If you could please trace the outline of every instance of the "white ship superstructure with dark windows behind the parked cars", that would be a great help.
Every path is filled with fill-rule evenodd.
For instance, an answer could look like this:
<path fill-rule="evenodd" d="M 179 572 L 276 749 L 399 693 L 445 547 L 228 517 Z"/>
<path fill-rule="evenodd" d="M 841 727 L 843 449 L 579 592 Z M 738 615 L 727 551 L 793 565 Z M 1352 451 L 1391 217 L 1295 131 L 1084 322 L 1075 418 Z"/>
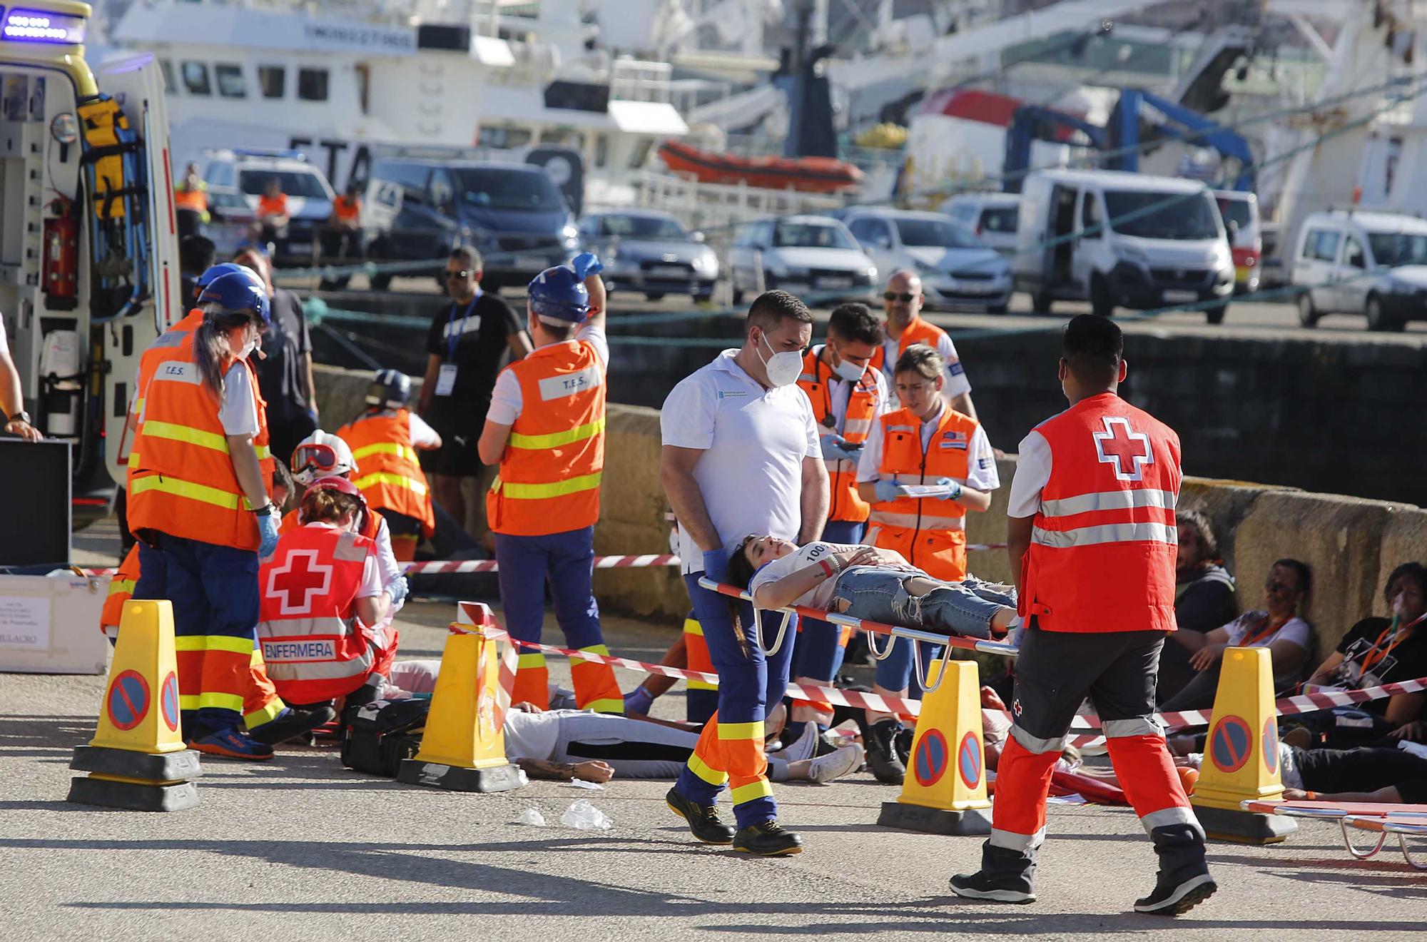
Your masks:
<path fill-rule="evenodd" d="M 176 168 L 210 148 L 295 147 L 341 188 L 372 150 L 547 143 L 581 151 L 598 174 L 635 170 L 688 133 L 668 63 L 588 74 L 562 66 L 555 44 L 484 34 L 475 20 L 412 26 L 392 4 L 341 10 L 352 19 L 156 0 L 131 4 L 111 41 L 160 61 Z"/>

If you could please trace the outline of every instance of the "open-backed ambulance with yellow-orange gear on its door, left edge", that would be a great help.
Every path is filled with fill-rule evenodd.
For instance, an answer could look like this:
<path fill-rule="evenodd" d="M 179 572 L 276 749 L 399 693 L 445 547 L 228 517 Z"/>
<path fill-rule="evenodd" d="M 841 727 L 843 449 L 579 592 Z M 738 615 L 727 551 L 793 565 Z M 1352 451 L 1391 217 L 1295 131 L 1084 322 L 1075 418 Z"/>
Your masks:
<path fill-rule="evenodd" d="M 144 348 L 183 318 L 163 73 L 91 66 L 90 7 L 0 7 L 0 317 L 24 408 L 71 444 L 76 522 L 123 481 Z"/>

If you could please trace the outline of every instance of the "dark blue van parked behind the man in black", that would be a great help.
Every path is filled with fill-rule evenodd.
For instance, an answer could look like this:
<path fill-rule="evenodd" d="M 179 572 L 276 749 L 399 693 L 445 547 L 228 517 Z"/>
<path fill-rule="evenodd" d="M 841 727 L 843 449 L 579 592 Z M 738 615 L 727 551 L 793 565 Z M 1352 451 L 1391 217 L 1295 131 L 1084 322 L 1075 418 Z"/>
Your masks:
<path fill-rule="evenodd" d="M 364 203 L 368 258 L 431 260 L 421 274 L 440 277 L 454 245 L 472 245 L 485 260 L 488 288 L 524 285 L 579 247 L 565 197 L 535 164 L 378 158 Z M 374 275 L 372 287 L 384 290 L 392 274 Z"/>

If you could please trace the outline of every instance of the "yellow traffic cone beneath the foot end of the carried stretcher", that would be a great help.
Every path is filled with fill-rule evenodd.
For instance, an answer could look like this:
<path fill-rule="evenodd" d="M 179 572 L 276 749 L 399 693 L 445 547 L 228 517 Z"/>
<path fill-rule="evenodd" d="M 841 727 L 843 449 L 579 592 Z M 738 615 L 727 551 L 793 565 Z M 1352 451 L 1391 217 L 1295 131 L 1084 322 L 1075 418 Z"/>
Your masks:
<path fill-rule="evenodd" d="M 916 644 L 899 639 L 896 644 Z M 936 678 L 942 677 L 938 684 Z M 935 689 L 930 689 L 933 688 Z M 980 677 L 975 661 L 935 661 L 916 719 L 902 796 L 882 802 L 878 824 L 926 834 L 990 834 L 985 811 Z"/>

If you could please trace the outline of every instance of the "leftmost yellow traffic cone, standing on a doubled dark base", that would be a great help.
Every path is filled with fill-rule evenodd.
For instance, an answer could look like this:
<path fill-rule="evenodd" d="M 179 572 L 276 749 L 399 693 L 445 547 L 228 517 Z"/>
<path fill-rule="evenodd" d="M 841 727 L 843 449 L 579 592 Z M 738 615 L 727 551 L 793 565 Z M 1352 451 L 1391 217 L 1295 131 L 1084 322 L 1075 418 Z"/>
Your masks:
<path fill-rule="evenodd" d="M 87 746 L 74 749 L 68 801 L 131 811 L 181 811 L 198 804 L 198 754 L 178 731 L 178 664 L 173 607 L 124 602 L 114 661 Z"/>

